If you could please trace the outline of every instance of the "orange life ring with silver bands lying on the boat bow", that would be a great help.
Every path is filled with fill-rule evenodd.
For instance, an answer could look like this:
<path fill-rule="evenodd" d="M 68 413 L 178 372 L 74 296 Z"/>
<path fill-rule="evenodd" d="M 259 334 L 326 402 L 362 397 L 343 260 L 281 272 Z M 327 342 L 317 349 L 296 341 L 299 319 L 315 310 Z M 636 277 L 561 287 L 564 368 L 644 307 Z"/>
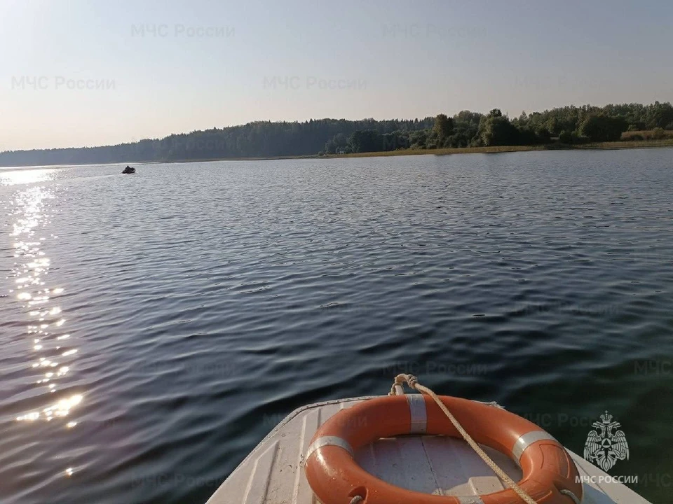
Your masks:
<path fill-rule="evenodd" d="M 572 504 L 582 499 L 578 470 L 562 444 L 534 423 L 513 413 L 466 399 L 441 396 L 474 440 L 497 449 L 522 468 L 519 486 L 540 504 Z M 306 478 L 322 504 L 461 504 L 465 498 L 437 496 L 400 488 L 362 469 L 355 451 L 381 437 L 405 434 L 461 437 L 432 398 L 421 394 L 365 400 L 327 420 L 313 436 L 305 459 Z M 480 504 L 515 504 L 511 489 L 470 500 Z"/>

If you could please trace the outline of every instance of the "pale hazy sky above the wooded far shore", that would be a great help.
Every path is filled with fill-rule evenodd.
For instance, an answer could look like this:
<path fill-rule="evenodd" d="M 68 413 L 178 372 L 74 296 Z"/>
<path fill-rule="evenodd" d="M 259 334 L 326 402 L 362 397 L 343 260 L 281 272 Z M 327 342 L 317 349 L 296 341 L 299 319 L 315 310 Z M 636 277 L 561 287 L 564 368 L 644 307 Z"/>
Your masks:
<path fill-rule="evenodd" d="M 673 1 L 0 0 L 0 151 L 673 100 Z"/>

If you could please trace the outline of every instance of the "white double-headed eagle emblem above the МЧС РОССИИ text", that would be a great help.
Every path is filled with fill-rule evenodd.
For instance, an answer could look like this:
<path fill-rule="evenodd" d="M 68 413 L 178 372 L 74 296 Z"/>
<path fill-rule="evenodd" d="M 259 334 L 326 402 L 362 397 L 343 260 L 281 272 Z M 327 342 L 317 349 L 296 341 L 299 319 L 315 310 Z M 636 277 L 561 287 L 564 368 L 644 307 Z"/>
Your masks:
<path fill-rule="evenodd" d="M 584 444 L 584 458 L 593 462 L 604 471 L 610 470 L 618 460 L 629 459 L 629 444 L 621 423 L 612 421 L 612 415 L 607 411 L 601 414 L 601 421 L 591 424 L 596 430 L 591 430 Z"/>

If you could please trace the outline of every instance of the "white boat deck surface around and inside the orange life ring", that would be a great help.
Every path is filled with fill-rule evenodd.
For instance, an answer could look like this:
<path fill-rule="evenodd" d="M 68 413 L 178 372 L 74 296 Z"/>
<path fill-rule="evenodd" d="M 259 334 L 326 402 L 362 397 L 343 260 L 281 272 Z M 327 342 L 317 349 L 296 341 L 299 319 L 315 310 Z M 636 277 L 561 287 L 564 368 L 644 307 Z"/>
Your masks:
<path fill-rule="evenodd" d="M 207 504 L 319 504 L 304 475 L 304 454 L 318 427 L 340 409 L 369 398 L 320 402 L 301 407 L 280 422 L 215 491 Z M 508 456 L 484 447 L 515 481 L 521 469 Z M 601 482 L 606 473 L 569 452 L 584 484 L 583 504 L 650 504 L 627 486 Z M 479 504 L 479 496 L 503 489 L 500 479 L 463 440 L 435 435 L 381 439 L 360 449 L 355 458 L 368 472 L 404 488 L 459 496 Z M 590 478 L 587 478 L 590 479 Z M 570 503 L 570 500 L 569 500 Z"/>

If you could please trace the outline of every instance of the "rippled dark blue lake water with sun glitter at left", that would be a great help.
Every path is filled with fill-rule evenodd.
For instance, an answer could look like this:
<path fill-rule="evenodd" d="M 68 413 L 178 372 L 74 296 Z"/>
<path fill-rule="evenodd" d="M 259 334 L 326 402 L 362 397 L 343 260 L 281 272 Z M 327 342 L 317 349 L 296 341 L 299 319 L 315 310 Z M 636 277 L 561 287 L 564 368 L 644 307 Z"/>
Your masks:
<path fill-rule="evenodd" d="M 0 500 L 204 503 L 398 372 L 673 491 L 673 150 L 0 170 Z"/>

